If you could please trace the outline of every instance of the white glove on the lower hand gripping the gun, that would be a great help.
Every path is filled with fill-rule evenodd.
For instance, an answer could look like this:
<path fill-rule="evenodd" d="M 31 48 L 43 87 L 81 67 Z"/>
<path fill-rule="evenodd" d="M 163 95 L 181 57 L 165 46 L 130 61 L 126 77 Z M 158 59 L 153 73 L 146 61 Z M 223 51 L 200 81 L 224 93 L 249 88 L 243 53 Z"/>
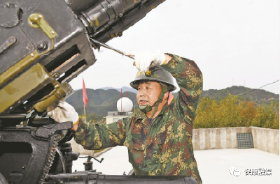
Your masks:
<path fill-rule="evenodd" d="M 73 106 L 64 101 L 59 101 L 57 107 L 48 107 L 48 116 L 58 123 L 72 121 L 75 124 L 78 121 L 78 113 Z"/>

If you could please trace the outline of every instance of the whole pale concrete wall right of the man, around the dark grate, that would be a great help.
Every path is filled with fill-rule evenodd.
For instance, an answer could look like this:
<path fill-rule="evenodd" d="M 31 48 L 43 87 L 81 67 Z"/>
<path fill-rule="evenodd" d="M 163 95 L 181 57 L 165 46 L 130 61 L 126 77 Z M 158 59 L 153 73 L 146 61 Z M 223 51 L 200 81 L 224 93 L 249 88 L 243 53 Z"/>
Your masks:
<path fill-rule="evenodd" d="M 279 130 L 256 127 L 193 130 L 194 150 L 237 148 L 237 133 L 251 132 L 255 148 L 279 155 Z"/>

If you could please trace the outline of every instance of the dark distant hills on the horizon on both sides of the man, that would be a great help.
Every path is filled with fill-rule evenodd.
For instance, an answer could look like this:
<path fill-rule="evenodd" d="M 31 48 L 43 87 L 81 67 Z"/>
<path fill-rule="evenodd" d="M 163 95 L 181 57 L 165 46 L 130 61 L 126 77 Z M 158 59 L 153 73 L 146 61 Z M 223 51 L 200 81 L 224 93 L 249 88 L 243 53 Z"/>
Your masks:
<path fill-rule="evenodd" d="M 123 97 L 127 95 L 130 100 L 132 100 L 133 105 L 138 108 L 136 93 L 137 91 L 131 87 L 124 86 Z M 250 92 L 251 91 L 251 92 Z M 255 102 L 269 102 L 269 100 L 278 100 L 279 95 L 270 93 L 262 89 L 249 89 L 244 86 L 232 86 L 227 89 L 209 89 L 203 91 L 202 95 L 207 98 L 221 100 L 225 98 L 228 94 L 240 95 L 241 98 L 246 98 L 247 100 L 253 100 Z M 244 95 L 241 95 L 244 94 Z M 174 93 L 174 98 L 178 96 L 178 93 Z M 120 89 L 113 89 L 111 87 L 106 87 L 102 89 L 87 89 L 87 113 L 94 113 L 98 116 L 106 116 L 107 112 L 118 111 L 117 101 L 120 99 Z M 73 95 L 66 99 L 66 102 L 73 105 L 78 114 L 83 114 L 83 91 L 79 89 Z"/>

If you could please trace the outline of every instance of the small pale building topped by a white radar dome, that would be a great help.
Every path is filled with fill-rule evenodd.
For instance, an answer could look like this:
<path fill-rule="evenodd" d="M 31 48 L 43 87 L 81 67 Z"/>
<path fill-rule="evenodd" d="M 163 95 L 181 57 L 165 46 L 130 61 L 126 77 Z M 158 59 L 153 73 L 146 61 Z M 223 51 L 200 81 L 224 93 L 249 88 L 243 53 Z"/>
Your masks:
<path fill-rule="evenodd" d="M 133 114 L 133 103 L 130 98 L 123 97 L 117 102 L 118 112 L 108 112 L 106 116 L 106 124 L 118 121 L 121 118 L 126 118 Z"/>

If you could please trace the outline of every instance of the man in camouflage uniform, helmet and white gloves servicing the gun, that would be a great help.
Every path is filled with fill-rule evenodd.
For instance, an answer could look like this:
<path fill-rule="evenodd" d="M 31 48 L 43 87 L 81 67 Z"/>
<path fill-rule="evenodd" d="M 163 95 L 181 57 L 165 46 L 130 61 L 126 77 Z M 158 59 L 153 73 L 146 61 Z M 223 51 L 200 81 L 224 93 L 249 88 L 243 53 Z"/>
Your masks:
<path fill-rule="evenodd" d="M 191 176 L 202 183 L 192 144 L 193 122 L 202 97 L 202 72 L 194 61 L 174 54 L 127 54 L 134 55 L 139 69 L 131 86 L 138 90 L 141 112 L 109 125 L 83 123 L 76 121 L 77 114 L 72 115 L 71 120 L 78 122 L 73 127 L 76 142 L 85 149 L 127 146 L 136 175 Z M 169 94 L 176 87 L 168 75 L 181 89 L 171 104 L 167 103 Z M 68 106 L 63 102 L 62 109 L 76 113 Z M 55 118 L 52 112 L 49 115 Z"/>

